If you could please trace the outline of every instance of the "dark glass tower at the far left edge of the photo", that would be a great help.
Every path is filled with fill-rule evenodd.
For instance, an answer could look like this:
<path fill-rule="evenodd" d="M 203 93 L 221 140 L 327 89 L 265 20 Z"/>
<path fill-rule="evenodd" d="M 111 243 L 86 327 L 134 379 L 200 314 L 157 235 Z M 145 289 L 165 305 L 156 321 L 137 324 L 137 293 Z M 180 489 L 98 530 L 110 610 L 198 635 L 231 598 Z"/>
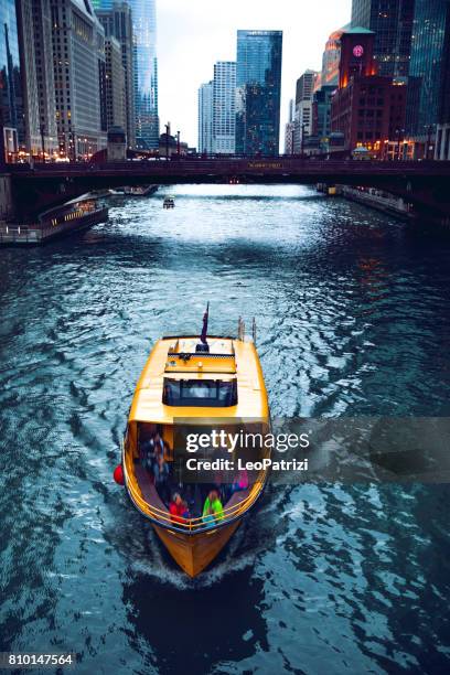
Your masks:
<path fill-rule="evenodd" d="M 14 161 L 25 140 L 14 0 L 0 0 L 0 152 Z"/>

